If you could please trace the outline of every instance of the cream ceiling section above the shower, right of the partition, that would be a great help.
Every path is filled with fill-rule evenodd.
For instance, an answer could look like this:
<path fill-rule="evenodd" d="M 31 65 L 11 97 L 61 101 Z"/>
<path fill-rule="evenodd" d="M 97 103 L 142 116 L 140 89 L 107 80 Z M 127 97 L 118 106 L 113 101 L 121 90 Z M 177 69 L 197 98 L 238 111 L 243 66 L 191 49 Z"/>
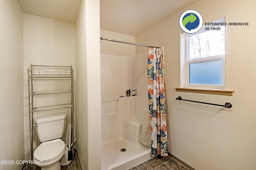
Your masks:
<path fill-rule="evenodd" d="M 100 0 L 100 28 L 136 36 L 196 1 Z"/>

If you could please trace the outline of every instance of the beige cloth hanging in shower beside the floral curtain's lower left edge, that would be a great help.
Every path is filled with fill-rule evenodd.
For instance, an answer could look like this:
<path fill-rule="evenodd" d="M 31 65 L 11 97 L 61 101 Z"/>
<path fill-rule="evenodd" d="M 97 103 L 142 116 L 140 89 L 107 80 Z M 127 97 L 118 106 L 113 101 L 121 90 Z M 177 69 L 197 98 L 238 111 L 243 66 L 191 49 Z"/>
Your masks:
<path fill-rule="evenodd" d="M 142 132 L 139 136 L 140 142 L 146 146 L 151 146 L 151 134 L 150 134 L 150 123 L 149 123 L 149 111 L 146 109 L 144 122 L 142 125 Z"/>

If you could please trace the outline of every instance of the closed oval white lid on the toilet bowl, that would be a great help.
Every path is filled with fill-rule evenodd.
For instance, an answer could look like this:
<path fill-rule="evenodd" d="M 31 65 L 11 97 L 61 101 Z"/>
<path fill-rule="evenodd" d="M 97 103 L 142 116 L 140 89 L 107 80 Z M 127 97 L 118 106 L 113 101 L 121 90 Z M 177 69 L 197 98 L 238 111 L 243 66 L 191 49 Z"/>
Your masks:
<path fill-rule="evenodd" d="M 35 150 L 37 160 L 47 161 L 58 156 L 65 148 L 65 143 L 60 139 L 42 142 Z"/>

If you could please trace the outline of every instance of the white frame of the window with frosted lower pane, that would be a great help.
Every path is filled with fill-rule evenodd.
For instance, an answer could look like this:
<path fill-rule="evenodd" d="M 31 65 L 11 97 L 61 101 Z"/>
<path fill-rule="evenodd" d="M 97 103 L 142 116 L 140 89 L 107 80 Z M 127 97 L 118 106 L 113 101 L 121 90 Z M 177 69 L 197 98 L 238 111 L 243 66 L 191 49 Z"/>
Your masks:
<path fill-rule="evenodd" d="M 215 22 L 224 22 L 225 18 L 221 18 Z M 203 32 L 209 31 L 206 28 L 218 28 L 221 26 L 203 26 L 201 30 L 194 34 L 183 33 L 180 34 L 180 87 L 184 88 L 193 88 L 193 89 L 220 89 L 223 90 L 226 88 L 226 78 L 225 78 L 225 53 L 221 55 L 213 55 L 208 57 L 189 59 L 189 37 L 197 34 L 201 34 Z M 225 26 L 224 26 L 225 27 Z M 225 27 L 225 35 L 226 35 L 226 27 Z M 226 47 L 226 36 L 225 36 L 225 47 Z M 225 49 L 226 51 L 226 49 Z M 201 63 L 207 61 L 218 61 L 222 60 L 222 85 L 202 85 L 202 84 L 190 84 L 190 70 L 189 64 L 191 63 Z"/>

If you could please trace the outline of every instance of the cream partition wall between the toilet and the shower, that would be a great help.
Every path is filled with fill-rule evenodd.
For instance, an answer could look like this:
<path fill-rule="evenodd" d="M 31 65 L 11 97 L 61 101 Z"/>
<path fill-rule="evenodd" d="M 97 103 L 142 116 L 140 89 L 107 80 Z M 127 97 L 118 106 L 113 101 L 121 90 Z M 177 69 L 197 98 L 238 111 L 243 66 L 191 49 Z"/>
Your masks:
<path fill-rule="evenodd" d="M 83 170 L 100 170 L 100 1 L 82 0 L 76 20 L 77 152 Z"/>

